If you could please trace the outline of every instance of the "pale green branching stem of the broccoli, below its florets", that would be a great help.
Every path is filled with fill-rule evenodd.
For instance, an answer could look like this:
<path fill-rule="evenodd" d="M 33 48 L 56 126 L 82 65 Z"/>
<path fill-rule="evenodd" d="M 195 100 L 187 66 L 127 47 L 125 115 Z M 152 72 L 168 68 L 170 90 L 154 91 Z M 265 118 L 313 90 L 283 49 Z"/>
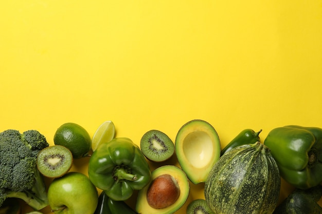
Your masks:
<path fill-rule="evenodd" d="M 35 183 L 30 191 L 9 191 L 6 193 L 7 198 L 19 198 L 25 201 L 34 210 L 40 210 L 49 205 L 47 191 L 44 179 L 39 172 L 35 170 Z"/>

